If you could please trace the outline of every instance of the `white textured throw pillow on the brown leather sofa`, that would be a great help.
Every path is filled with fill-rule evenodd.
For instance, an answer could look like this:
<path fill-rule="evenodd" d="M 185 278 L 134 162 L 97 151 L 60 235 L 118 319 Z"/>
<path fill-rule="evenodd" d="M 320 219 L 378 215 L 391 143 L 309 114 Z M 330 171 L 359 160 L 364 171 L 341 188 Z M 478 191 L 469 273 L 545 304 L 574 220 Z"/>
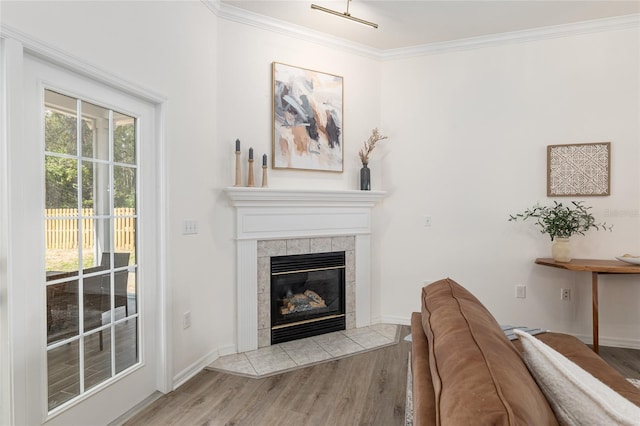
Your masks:
<path fill-rule="evenodd" d="M 640 408 L 533 336 L 516 335 L 524 359 L 561 424 L 637 425 Z"/>

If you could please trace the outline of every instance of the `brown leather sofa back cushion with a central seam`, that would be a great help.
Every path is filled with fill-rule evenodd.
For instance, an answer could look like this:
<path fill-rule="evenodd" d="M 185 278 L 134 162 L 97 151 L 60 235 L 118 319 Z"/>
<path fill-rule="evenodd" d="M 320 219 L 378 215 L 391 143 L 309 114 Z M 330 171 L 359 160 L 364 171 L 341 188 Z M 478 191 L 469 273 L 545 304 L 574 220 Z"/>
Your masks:
<path fill-rule="evenodd" d="M 554 425 L 553 411 L 491 313 L 451 279 L 422 289 L 437 424 Z"/>

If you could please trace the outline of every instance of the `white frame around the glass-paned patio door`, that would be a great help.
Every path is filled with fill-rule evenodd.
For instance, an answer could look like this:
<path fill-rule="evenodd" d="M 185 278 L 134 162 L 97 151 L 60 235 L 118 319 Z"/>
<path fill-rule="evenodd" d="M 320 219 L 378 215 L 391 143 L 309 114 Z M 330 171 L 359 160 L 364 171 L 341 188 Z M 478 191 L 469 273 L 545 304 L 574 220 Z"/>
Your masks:
<path fill-rule="evenodd" d="M 107 86 L 126 95 L 133 96 L 151 104 L 155 124 L 157 154 L 154 164 L 158 182 L 157 201 L 157 305 L 159 323 L 156 325 L 156 390 L 167 393 L 173 390 L 173 371 L 171 353 L 171 293 L 167 277 L 169 276 L 169 249 L 167 245 L 167 161 L 166 161 L 166 108 L 167 98 L 151 90 L 127 82 L 117 76 L 102 71 L 84 61 L 71 57 L 59 49 L 45 45 L 25 34 L 0 27 L 0 66 L 4 78 L 0 81 L 0 94 L 4 102 L 0 105 L 0 124 L 5 131 L 0 132 L 0 423 L 27 424 L 33 417 L 33 404 L 29 403 L 27 372 L 29 364 L 40 362 L 40 354 L 26 353 L 24 315 L 20 307 L 26 306 L 27 292 L 16 282 L 20 268 L 18 256 L 12 251 L 24 250 L 20 247 L 20 232 L 13 230 L 13 216 L 20 212 L 12 211 L 12 202 L 22 196 L 19 171 L 12 167 L 11 158 L 20 155 L 12 151 L 10 141 L 20 141 L 25 134 L 23 70 L 25 55 L 30 55 L 65 71 L 91 80 L 93 83 Z M 5 155 L 6 154 L 6 155 Z M 14 250 L 15 249 L 15 250 Z M 5 374 L 7 373 L 7 374 Z M 41 380 L 46 380 L 42 378 Z M 145 395 L 148 397 L 149 395 Z M 38 409 L 39 412 L 39 409 Z M 118 415 L 124 413 L 117 413 Z M 117 417 L 117 416 L 116 416 Z"/>

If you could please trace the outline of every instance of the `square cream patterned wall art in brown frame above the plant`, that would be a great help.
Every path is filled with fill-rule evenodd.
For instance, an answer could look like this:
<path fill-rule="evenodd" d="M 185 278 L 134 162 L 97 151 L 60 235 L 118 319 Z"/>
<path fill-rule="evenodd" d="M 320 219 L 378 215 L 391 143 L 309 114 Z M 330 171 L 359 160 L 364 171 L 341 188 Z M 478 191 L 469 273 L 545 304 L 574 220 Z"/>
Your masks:
<path fill-rule="evenodd" d="M 611 142 L 547 146 L 547 195 L 611 194 Z"/>

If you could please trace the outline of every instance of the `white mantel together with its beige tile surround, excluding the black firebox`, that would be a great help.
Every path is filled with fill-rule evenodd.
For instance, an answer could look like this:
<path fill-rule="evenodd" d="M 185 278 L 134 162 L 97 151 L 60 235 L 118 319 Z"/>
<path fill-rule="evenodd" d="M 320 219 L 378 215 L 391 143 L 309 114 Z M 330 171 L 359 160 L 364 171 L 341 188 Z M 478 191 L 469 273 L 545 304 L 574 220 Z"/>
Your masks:
<path fill-rule="evenodd" d="M 371 209 L 381 191 L 227 188 L 236 208 L 237 351 L 270 345 L 270 257 L 345 251 L 347 329 L 371 324 Z"/>

